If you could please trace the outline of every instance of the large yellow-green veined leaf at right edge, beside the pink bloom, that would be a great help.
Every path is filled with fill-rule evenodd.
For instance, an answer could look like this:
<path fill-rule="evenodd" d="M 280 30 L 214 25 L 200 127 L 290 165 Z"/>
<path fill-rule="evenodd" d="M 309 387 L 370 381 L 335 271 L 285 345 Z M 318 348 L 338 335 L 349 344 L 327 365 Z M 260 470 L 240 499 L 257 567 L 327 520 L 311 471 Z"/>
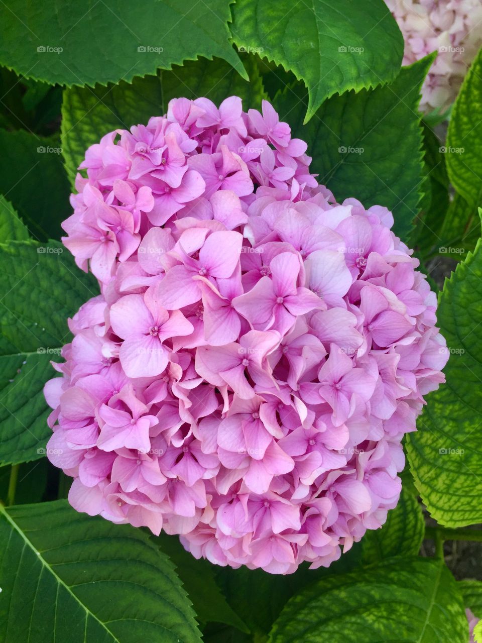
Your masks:
<path fill-rule="evenodd" d="M 430 395 L 407 454 L 435 520 L 462 527 L 482 521 L 482 240 L 445 281 L 437 318 L 451 352 L 447 382 Z"/>

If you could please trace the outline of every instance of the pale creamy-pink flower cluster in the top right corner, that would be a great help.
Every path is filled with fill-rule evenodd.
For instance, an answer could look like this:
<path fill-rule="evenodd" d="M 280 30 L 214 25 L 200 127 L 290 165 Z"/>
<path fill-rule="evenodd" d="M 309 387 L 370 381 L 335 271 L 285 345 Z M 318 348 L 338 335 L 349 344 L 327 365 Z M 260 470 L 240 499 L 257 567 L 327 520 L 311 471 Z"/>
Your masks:
<path fill-rule="evenodd" d="M 386 0 L 386 4 L 404 35 L 404 65 L 437 52 L 422 87 L 420 109 L 447 111 L 482 46 L 481 0 Z"/>

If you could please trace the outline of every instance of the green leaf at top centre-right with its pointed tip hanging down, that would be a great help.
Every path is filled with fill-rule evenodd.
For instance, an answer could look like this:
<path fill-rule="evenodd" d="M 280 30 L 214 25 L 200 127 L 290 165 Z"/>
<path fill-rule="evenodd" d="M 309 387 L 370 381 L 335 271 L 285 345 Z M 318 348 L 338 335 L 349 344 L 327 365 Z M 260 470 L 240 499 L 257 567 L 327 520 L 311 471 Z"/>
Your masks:
<path fill-rule="evenodd" d="M 242 0 L 231 33 L 238 49 L 305 82 L 307 121 L 326 98 L 393 80 L 402 64 L 402 34 L 382 0 Z"/>

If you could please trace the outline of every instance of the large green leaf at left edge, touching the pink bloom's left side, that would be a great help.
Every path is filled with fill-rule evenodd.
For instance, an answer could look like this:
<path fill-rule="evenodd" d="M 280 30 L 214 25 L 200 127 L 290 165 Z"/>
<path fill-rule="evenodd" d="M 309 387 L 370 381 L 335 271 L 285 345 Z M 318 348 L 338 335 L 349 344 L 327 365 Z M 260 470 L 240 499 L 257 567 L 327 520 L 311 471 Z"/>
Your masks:
<path fill-rule="evenodd" d="M 43 387 L 67 317 L 98 292 L 57 242 L 0 244 L 0 464 L 36 460 L 50 435 Z"/>

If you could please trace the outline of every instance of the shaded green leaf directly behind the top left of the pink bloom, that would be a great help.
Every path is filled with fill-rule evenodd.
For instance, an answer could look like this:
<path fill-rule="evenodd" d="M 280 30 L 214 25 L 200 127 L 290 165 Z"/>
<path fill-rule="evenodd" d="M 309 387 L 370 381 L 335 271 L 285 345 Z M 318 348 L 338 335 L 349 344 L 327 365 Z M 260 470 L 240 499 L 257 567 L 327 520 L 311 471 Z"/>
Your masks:
<path fill-rule="evenodd" d="M 251 82 L 243 80 L 224 60 L 199 59 L 163 71 L 159 76 L 134 78 L 132 84 L 65 89 L 62 150 L 71 182 L 89 145 L 98 143 L 114 129 L 130 129 L 132 125 L 147 123 L 151 116 L 161 116 L 171 98 L 207 96 L 219 105 L 224 98 L 237 95 L 243 98 L 245 110 L 260 107 L 265 97 L 262 82 L 249 59 L 247 68 Z"/>

